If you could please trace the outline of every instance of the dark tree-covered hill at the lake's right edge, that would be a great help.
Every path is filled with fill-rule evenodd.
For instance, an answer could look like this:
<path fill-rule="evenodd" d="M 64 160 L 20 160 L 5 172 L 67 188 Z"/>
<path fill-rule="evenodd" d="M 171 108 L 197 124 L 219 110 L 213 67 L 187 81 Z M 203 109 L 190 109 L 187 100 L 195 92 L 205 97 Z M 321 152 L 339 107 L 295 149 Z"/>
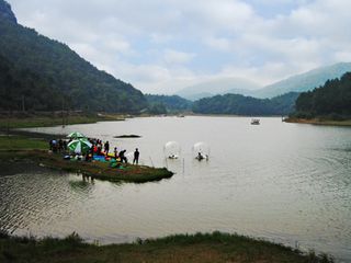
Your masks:
<path fill-rule="evenodd" d="M 297 117 L 351 118 L 351 72 L 328 80 L 322 87 L 301 93 L 296 100 Z"/>

